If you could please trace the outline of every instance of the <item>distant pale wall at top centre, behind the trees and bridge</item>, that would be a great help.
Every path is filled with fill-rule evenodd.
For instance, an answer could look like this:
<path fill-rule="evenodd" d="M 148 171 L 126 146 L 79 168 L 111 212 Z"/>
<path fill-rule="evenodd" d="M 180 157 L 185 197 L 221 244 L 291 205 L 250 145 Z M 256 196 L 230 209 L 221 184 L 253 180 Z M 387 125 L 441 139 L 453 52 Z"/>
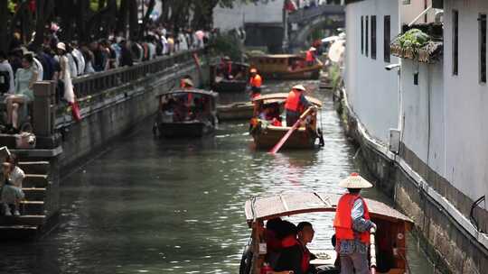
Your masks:
<path fill-rule="evenodd" d="M 267 4 L 235 4 L 233 8 L 217 6 L 213 9 L 213 26 L 222 31 L 243 27 L 244 23 L 283 23 L 283 1 Z"/>

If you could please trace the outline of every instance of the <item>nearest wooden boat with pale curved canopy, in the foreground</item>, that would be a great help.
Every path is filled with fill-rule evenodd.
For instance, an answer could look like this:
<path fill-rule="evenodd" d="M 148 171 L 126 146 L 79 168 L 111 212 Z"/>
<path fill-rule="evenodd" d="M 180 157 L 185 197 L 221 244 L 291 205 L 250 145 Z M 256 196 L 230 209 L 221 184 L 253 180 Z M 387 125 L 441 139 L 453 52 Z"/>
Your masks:
<path fill-rule="evenodd" d="M 240 261 L 239 274 L 259 274 L 264 263 L 268 262 L 264 237 L 267 220 L 310 213 L 331 215 L 335 213 L 340 197 L 336 194 L 294 192 L 253 197 L 247 201 L 245 205 L 246 221 L 249 228 L 252 228 L 252 232 Z M 370 249 L 370 253 L 375 254 L 371 255 L 373 257 L 370 261 L 371 267 L 374 265 L 376 273 L 409 273 L 406 233 L 411 229 L 412 221 L 389 205 L 371 199 L 365 200 L 370 210 L 371 221 L 378 226 L 376 233 L 371 234 L 371 243 L 377 242 L 376 245 L 371 244 L 371 246 L 375 246 L 375 252 L 371 252 Z M 378 241 L 375 241 L 376 239 Z M 311 252 L 317 259 L 311 260 L 310 263 L 321 266 L 321 269 L 324 269 L 324 272 L 321 273 L 340 272 L 340 269 L 335 266 L 337 253 L 333 250 L 332 245 L 319 247 Z"/>

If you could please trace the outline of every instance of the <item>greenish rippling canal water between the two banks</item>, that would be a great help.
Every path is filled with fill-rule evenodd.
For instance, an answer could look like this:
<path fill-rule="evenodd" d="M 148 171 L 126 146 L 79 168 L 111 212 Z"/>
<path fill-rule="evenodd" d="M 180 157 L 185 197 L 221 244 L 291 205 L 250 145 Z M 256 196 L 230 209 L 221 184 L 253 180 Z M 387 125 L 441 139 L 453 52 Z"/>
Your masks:
<path fill-rule="evenodd" d="M 293 84 L 269 84 L 266 92 Z M 239 273 L 250 196 L 340 194 L 339 180 L 359 169 L 332 96 L 317 81 L 306 86 L 324 101 L 324 148 L 276 156 L 254 151 L 247 121 L 221 123 L 214 137 L 199 141 L 158 140 L 148 119 L 63 178 L 61 224 L 39 242 L 3 244 L 0 273 Z M 364 196 L 389 204 L 374 188 Z M 333 215 L 300 217 L 291 220 L 314 224 L 311 247 L 332 249 Z M 409 236 L 408 244 L 413 273 L 432 273 L 417 240 Z"/>

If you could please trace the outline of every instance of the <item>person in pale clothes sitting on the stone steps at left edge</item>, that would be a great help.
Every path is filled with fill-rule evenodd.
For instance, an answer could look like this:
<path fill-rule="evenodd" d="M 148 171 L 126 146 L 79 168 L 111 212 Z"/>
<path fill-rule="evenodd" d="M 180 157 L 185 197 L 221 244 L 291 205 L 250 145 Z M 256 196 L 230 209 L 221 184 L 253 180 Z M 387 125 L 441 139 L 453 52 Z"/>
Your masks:
<path fill-rule="evenodd" d="M 18 158 L 14 154 L 11 154 L 2 164 L 2 171 L 5 183 L 0 188 L 0 200 L 2 201 L 4 214 L 11 216 L 12 212 L 14 212 L 14 216 L 19 216 L 20 202 L 25 197 L 22 191 L 25 173 L 18 167 Z M 14 211 L 11 211 L 12 207 Z"/>

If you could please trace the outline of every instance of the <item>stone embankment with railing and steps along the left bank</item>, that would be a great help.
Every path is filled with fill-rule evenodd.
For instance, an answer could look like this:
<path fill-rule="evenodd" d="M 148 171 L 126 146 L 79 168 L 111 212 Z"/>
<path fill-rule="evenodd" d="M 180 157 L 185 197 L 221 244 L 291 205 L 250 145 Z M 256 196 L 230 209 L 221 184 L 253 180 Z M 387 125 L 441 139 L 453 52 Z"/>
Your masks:
<path fill-rule="evenodd" d="M 16 149 L 14 136 L 0 135 L 0 144 L 19 156 L 27 175 L 22 216 L 0 216 L 0 238 L 37 238 L 49 232 L 60 211 L 60 177 L 155 114 L 156 95 L 179 87 L 180 78 L 192 77 L 197 87 L 208 83 L 207 65 L 204 50 L 197 50 L 75 78 L 80 121 L 72 119 L 70 107 L 58 104 L 54 83 L 36 83 L 35 148 Z"/>

